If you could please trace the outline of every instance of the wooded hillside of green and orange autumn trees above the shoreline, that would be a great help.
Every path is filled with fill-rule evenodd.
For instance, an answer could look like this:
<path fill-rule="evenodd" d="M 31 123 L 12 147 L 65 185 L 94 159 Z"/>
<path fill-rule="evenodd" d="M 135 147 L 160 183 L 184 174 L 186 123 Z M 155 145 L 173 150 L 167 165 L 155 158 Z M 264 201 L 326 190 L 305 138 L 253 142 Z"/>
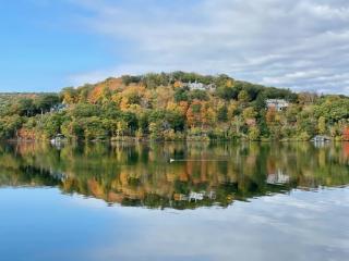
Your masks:
<path fill-rule="evenodd" d="M 191 86 L 200 83 L 200 87 Z M 282 111 L 267 99 L 284 99 Z M 60 94 L 0 96 L 0 138 L 73 140 L 349 139 L 346 96 L 294 94 L 227 75 L 124 75 Z"/>

